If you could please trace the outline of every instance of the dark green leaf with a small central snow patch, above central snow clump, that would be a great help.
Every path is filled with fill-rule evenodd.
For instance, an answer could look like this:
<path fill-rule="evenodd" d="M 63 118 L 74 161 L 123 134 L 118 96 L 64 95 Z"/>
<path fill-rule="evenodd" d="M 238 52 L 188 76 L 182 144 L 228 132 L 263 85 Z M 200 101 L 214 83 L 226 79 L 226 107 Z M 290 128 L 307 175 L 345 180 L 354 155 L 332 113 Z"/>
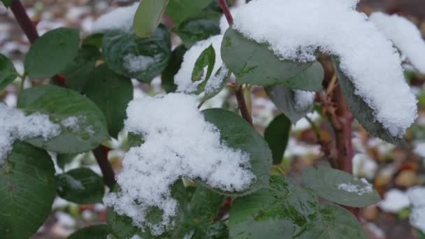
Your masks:
<path fill-rule="evenodd" d="M 170 34 L 160 24 L 150 38 L 109 31 L 103 37 L 103 55 L 106 64 L 120 75 L 150 82 L 161 74 L 171 57 Z"/>

